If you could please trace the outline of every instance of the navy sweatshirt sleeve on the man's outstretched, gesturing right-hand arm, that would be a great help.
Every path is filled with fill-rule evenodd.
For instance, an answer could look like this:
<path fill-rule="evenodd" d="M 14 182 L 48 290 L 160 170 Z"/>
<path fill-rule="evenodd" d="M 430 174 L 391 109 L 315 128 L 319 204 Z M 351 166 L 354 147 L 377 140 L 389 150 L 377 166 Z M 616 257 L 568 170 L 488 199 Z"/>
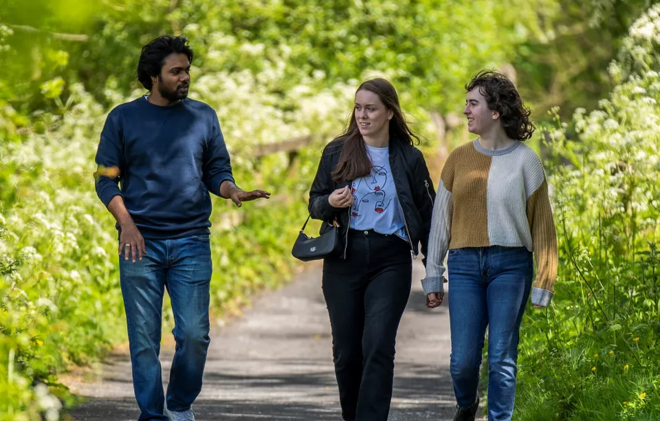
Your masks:
<path fill-rule="evenodd" d="M 220 185 L 226 180 L 234 182 L 234 176 L 218 116 L 212 114 L 212 133 L 203 157 L 203 182 L 210 193 L 220 196 Z"/>

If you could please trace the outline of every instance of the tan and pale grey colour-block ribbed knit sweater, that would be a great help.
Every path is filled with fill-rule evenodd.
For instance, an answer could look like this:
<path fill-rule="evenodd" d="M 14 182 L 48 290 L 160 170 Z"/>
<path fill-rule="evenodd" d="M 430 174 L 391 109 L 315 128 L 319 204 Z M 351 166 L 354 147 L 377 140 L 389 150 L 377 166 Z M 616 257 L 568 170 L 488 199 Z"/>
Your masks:
<path fill-rule="evenodd" d="M 448 249 L 488 246 L 524 246 L 533 252 L 531 301 L 549 305 L 557 277 L 557 235 L 543 166 L 522 142 L 493 151 L 474 140 L 450 153 L 433 208 L 424 292 L 443 291 Z"/>

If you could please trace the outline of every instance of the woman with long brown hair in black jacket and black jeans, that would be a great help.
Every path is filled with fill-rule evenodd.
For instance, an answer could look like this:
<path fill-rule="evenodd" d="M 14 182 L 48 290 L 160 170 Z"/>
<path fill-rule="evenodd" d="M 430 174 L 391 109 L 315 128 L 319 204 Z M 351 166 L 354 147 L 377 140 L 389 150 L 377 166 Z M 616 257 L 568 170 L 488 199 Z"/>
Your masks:
<path fill-rule="evenodd" d="M 342 233 L 322 280 L 342 417 L 386 421 L 412 258 L 419 243 L 426 256 L 435 191 L 387 80 L 360 85 L 347 126 L 322 153 L 309 213 L 327 222 L 322 231 L 338 224 Z"/>

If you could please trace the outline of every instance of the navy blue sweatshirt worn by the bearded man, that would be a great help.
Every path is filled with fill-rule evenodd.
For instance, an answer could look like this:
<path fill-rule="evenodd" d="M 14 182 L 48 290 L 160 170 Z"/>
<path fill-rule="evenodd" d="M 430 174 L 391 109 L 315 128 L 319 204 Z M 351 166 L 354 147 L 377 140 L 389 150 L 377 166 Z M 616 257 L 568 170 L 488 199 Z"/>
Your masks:
<path fill-rule="evenodd" d="M 115 107 L 101 132 L 96 164 L 119 169 L 117 175 L 100 167 L 98 197 L 107 207 L 121 195 L 147 239 L 208 234 L 209 192 L 220 195 L 220 184 L 234 181 L 217 114 L 188 98 L 173 107 L 146 97 Z"/>

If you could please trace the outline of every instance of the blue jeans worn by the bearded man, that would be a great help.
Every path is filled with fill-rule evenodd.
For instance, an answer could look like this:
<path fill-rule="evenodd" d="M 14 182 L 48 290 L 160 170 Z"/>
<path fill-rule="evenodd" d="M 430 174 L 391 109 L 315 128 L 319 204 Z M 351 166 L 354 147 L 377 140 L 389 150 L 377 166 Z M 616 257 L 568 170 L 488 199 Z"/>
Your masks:
<path fill-rule="evenodd" d="M 211 250 L 208 235 L 179 239 L 145 239 L 146 255 L 135 263 L 120 255 L 120 279 L 133 388 L 140 407 L 138 421 L 167 420 L 160 361 L 162 306 L 170 295 L 176 352 L 167 388 L 167 407 L 186 411 L 201 391 L 210 339 L 208 303 Z"/>

